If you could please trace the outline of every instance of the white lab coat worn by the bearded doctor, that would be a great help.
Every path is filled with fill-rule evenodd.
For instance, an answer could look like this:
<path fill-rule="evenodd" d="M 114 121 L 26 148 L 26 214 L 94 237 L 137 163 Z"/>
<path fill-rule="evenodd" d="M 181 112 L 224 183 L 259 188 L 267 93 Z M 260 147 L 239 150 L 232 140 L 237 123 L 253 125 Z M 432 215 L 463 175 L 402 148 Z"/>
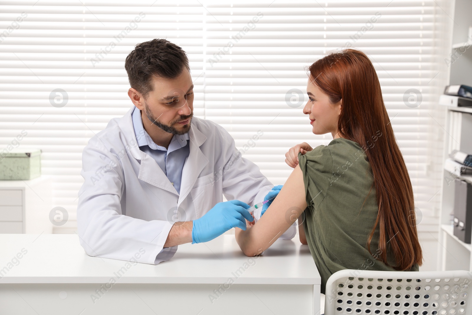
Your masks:
<path fill-rule="evenodd" d="M 201 218 L 223 194 L 250 205 L 261 202 L 273 187 L 259 167 L 241 157 L 224 128 L 194 117 L 179 195 L 137 146 L 133 109 L 111 119 L 82 154 L 77 229 L 88 255 L 159 264 L 177 251 L 163 248 L 175 221 Z M 295 233 L 294 223 L 280 239 Z"/>

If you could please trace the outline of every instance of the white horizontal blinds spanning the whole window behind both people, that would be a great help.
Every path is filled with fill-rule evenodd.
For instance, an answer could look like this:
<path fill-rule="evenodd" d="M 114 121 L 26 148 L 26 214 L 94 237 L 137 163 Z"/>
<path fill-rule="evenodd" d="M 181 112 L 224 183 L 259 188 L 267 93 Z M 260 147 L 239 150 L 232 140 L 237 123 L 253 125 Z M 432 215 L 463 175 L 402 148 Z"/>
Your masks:
<path fill-rule="evenodd" d="M 433 58 L 441 14 L 432 0 L 2 1 L 0 147 L 23 131 L 15 146 L 42 149 L 54 206 L 67 210 L 65 227 L 75 229 L 82 150 L 133 106 L 124 60 L 135 44 L 167 38 L 188 54 L 195 116 L 226 128 L 244 157 L 283 184 L 289 147 L 331 140 L 313 135 L 302 113 L 304 68 L 352 45 L 377 70 L 416 206 L 433 216 L 431 187 L 440 182 L 428 165 L 438 148 L 427 130 L 444 85 Z"/>

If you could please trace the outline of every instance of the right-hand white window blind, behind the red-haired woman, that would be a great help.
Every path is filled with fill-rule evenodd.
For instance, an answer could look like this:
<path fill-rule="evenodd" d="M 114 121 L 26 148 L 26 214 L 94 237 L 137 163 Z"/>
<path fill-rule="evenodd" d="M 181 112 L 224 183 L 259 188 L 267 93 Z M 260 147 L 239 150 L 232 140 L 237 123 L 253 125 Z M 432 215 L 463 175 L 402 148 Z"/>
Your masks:
<path fill-rule="evenodd" d="M 377 71 L 418 221 L 437 230 L 428 219 L 438 211 L 440 179 L 432 165 L 441 148 L 428 132 L 439 128 L 432 112 L 445 83 L 435 56 L 444 43 L 435 38 L 435 23 L 446 14 L 435 1 L 238 1 L 207 9 L 205 117 L 228 129 L 246 158 L 283 184 L 292 171 L 284 162 L 288 148 L 328 145 L 331 135 L 312 134 L 302 112 L 305 69 L 329 51 L 360 49 Z M 263 136 L 251 140 L 258 130 Z"/>

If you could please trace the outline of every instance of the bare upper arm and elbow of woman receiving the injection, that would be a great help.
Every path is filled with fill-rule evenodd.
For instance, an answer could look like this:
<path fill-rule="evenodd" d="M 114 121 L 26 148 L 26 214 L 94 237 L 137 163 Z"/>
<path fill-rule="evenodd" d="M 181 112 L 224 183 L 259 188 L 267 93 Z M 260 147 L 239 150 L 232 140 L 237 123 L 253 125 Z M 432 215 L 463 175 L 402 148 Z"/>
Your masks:
<path fill-rule="evenodd" d="M 255 256 L 269 248 L 302 214 L 305 200 L 303 174 L 297 165 L 261 219 L 245 231 L 236 228 L 236 242 L 244 254 Z"/>

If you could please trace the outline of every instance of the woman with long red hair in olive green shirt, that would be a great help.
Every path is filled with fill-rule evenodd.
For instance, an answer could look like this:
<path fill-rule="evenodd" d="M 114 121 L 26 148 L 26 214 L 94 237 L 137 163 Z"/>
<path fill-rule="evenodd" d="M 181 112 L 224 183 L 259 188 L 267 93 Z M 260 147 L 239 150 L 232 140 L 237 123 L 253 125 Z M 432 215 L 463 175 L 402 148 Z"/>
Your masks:
<path fill-rule="evenodd" d="M 259 221 L 236 228 L 237 243 L 245 255 L 259 255 L 298 218 L 321 293 L 341 269 L 418 271 L 413 189 L 372 63 L 346 49 L 309 71 L 303 113 L 314 134 L 333 140 L 287 152 L 292 174 Z"/>

